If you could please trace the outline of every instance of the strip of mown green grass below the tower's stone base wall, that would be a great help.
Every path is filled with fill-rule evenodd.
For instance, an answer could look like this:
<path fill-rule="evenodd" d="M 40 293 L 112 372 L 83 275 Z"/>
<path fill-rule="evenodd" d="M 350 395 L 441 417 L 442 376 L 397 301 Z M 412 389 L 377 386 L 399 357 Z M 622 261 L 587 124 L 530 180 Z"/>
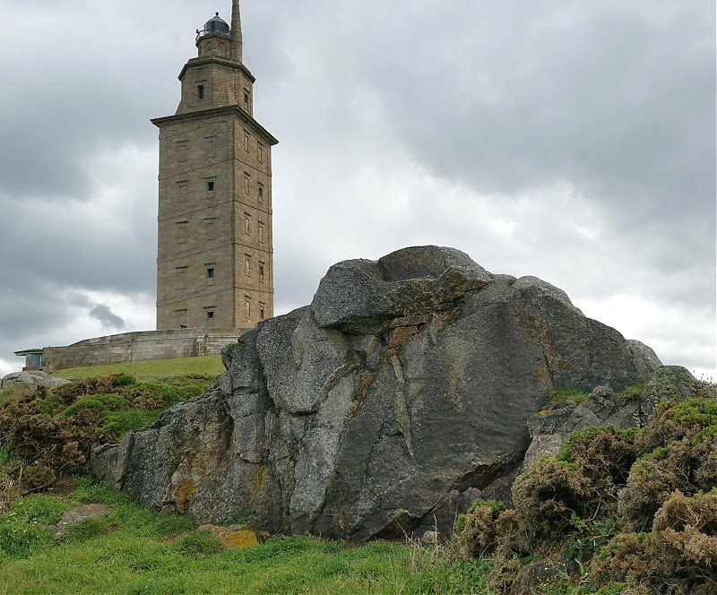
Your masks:
<path fill-rule="evenodd" d="M 69 380 L 79 380 L 109 374 L 130 374 L 136 376 L 138 380 L 147 380 L 167 376 L 218 376 L 223 372 L 225 369 L 220 356 L 203 356 L 201 358 L 158 359 L 111 366 L 72 367 L 66 370 L 57 370 L 53 375 Z"/>

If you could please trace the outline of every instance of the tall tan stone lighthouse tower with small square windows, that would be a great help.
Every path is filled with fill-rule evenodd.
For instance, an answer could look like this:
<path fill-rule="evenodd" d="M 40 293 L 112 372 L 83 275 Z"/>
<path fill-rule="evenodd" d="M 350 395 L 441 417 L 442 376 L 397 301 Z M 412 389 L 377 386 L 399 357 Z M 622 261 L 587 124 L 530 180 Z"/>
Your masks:
<path fill-rule="evenodd" d="M 160 129 L 157 329 L 250 328 L 273 315 L 272 146 L 254 118 L 239 1 L 197 30 Z"/>

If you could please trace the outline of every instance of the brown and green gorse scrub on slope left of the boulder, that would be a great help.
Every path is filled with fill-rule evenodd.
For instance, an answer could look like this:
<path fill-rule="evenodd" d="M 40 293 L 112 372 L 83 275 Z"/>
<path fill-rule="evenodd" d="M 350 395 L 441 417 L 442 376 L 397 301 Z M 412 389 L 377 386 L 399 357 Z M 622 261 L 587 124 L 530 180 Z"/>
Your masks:
<path fill-rule="evenodd" d="M 84 469 L 93 444 L 117 442 L 163 410 L 205 392 L 205 376 L 137 382 L 125 373 L 39 386 L 0 401 L 0 510 L 13 494 L 51 486 Z M 11 463 L 12 459 L 12 463 Z"/>

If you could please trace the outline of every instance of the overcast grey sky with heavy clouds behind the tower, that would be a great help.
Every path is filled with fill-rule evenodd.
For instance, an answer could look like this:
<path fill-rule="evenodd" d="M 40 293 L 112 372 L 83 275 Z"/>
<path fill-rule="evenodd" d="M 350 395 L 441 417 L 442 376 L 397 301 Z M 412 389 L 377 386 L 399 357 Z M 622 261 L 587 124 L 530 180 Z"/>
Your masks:
<path fill-rule="evenodd" d="M 0 374 L 154 328 L 158 131 L 229 0 L 0 0 Z M 278 314 L 403 246 L 715 370 L 714 0 L 243 0 Z"/>

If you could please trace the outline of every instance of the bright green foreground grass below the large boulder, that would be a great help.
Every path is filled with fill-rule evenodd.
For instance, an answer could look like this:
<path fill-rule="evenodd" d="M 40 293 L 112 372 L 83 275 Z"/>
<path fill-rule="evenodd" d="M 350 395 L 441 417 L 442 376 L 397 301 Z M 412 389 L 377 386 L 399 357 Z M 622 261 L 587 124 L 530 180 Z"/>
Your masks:
<path fill-rule="evenodd" d="M 115 510 L 54 542 L 60 515 L 85 502 Z M 488 593 L 488 569 L 381 541 L 357 548 L 282 537 L 229 551 L 186 517 L 153 513 L 89 479 L 72 496 L 25 497 L 0 515 L 0 594 Z"/>

